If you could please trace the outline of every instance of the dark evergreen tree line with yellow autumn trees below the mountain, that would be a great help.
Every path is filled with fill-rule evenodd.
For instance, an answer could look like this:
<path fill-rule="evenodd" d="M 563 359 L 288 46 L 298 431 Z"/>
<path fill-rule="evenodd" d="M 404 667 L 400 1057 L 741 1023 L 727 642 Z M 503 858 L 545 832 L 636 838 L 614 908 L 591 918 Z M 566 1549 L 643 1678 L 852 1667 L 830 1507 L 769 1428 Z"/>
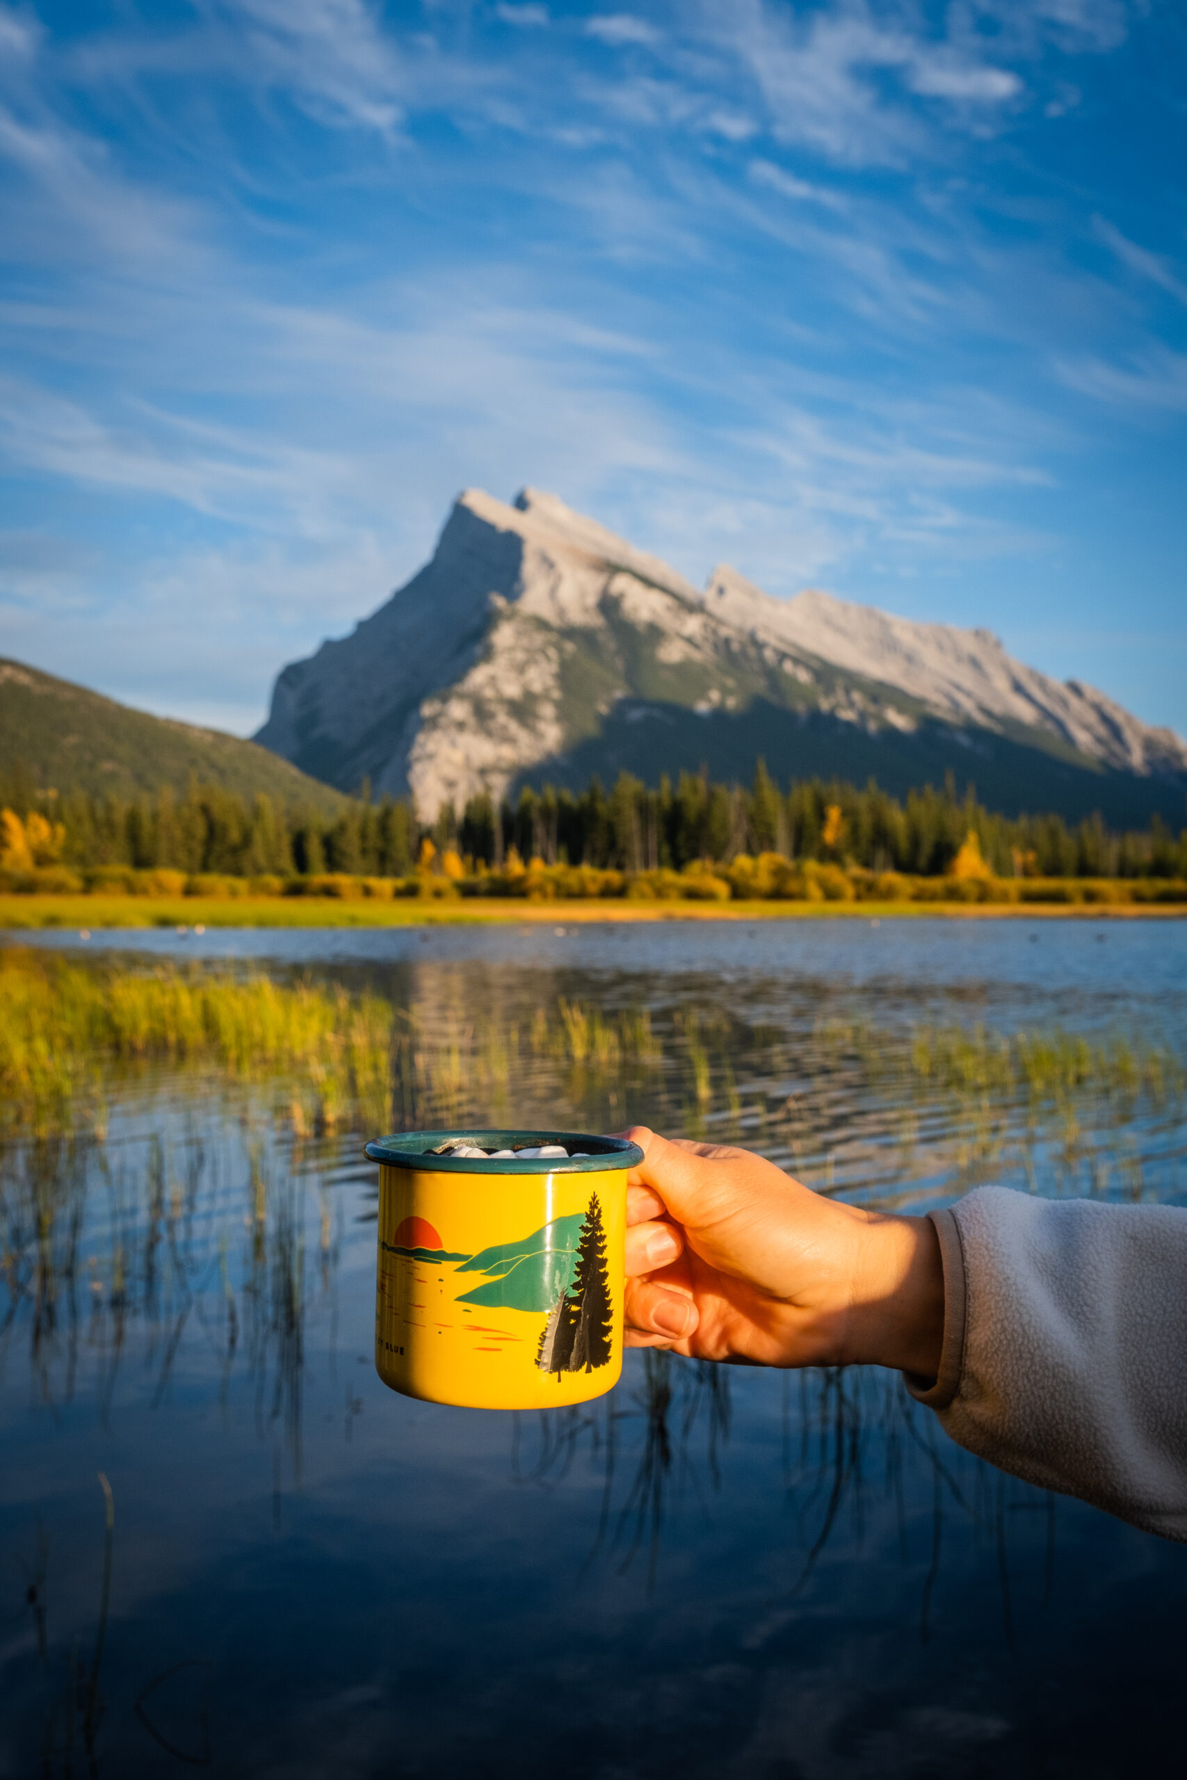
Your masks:
<path fill-rule="evenodd" d="M 1007 819 L 977 803 L 972 787 L 959 796 L 952 776 L 941 789 L 925 785 L 906 799 L 874 781 L 858 789 L 799 780 L 781 790 L 762 762 L 749 787 L 682 773 L 674 785 L 662 778 L 658 789 L 648 789 L 623 773 L 610 790 L 593 778 L 577 794 L 545 787 L 498 805 L 489 796 L 470 797 L 464 810 L 445 806 L 434 822 L 418 821 L 404 799 L 375 803 L 367 789 L 327 819 L 205 785 L 190 785 L 182 797 L 169 787 L 130 801 L 84 792 L 59 797 L 34 790 L 30 774 L 18 767 L 0 774 L 0 812 L 16 819 L 0 831 L 0 863 L 9 869 L 61 863 L 404 878 L 418 863 L 440 865 L 450 854 L 472 870 L 502 869 L 514 849 L 523 862 L 626 872 L 779 853 L 936 876 L 975 835 L 986 867 L 1000 878 L 1187 878 L 1187 828 L 1175 835 L 1157 815 L 1134 833 L 1110 833 L 1100 817 L 1075 826 L 1059 815 Z"/>

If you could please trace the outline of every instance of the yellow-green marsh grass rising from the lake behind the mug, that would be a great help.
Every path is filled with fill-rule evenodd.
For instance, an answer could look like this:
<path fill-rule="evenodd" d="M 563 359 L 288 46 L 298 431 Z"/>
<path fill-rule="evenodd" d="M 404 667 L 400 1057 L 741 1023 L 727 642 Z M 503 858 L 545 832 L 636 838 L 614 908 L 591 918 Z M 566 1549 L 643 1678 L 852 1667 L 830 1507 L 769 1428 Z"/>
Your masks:
<path fill-rule="evenodd" d="M 762 1132 L 774 1121 L 799 1145 L 799 1109 L 792 1116 L 767 1105 L 763 1093 L 744 1109 L 737 1088 L 742 1061 L 760 1075 L 785 1070 L 785 1047 L 778 1027 L 742 1029 L 712 1009 L 676 1009 L 657 1025 L 646 1009 L 561 997 L 530 1018 L 431 1018 L 333 984 L 0 954 L 0 1130 L 9 1134 L 101 1132 L 121 1086 L 153 1066 L 274 1082 L 272 1107 L 297 1137 L 466 1123 L 489 1109 L 518 1123 L 514 1102 L 543 1068 L 561 1072 L 557 1105 L 566 1116 L 632 1116 L 642 1100 L 658 1098 L 689 1129 L 715 1120 L 740 1132 L 749 1120 Z M 883 1031 L 833 1020 L 815 1029 L 812 1054 L 819 1084 L 829 1072 L 856 1072 L 867 1100 L 892 1095 L 906 1107 L 941 1096 L 963 1107 L 970 1155 L 982 1157 L 993 1153 L 993 1109 L 1002 1104 L 1062 1109 L 1071 1130 L 1073 1100 L 1141 1095 L 1160 1104 L 1185 1086 L 1167 1047 L 1116 1032 Z"/>

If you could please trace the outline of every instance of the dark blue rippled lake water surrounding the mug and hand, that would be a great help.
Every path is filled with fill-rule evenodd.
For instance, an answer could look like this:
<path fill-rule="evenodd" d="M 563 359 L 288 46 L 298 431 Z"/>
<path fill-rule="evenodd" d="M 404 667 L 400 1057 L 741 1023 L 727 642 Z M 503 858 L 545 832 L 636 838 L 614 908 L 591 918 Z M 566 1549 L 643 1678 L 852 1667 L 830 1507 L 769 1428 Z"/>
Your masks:
<path fill-rule="evenodd" d="M 377 990 L 411 1016 L 393 1121 L 646 1120 L 915 1210 L 1187 1203 L 1182 922 L 20 943 Z M 984 1073 L 1055 1031 L 1096 1047 L 1080 1089 Z M 981 1465 L 874 1369 L 630 1355 L 539 1417 L 393 1396 L 367 1134 L 276 1105 L 157 1072 L 105 1141 L 4 1153 L 0 1775 L 1178 1771 L 1187 1550 Z"/>

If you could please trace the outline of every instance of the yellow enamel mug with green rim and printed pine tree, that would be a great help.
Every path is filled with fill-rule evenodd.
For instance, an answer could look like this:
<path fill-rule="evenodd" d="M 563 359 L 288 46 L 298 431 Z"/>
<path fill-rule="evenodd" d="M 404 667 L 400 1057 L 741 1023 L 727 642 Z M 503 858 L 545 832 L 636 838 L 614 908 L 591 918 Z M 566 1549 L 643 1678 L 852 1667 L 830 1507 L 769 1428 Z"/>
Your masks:
<path fill-rule="evenodd" d="M 450 1155 L 553 1146 L 562 1155 Z M 429 1403 L 550 1410 L 623 1371 L 625 1137 L 416 1130 L 379 1162 L 375 1371 Z"/>

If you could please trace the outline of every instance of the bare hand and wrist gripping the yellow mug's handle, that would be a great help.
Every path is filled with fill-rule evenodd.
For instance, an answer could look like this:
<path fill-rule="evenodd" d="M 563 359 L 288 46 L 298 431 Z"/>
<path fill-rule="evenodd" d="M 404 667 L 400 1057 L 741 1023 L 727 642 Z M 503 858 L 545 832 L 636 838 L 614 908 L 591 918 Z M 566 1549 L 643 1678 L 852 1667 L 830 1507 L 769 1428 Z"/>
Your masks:
<path fill-rule="evenodd" d="M 628 1177 L 626 1346 L 756 1365 L 940 1369 L 943 1267 L 927 1218 L 810 1193 L 751 1150 L 642 1125 Z"/>

